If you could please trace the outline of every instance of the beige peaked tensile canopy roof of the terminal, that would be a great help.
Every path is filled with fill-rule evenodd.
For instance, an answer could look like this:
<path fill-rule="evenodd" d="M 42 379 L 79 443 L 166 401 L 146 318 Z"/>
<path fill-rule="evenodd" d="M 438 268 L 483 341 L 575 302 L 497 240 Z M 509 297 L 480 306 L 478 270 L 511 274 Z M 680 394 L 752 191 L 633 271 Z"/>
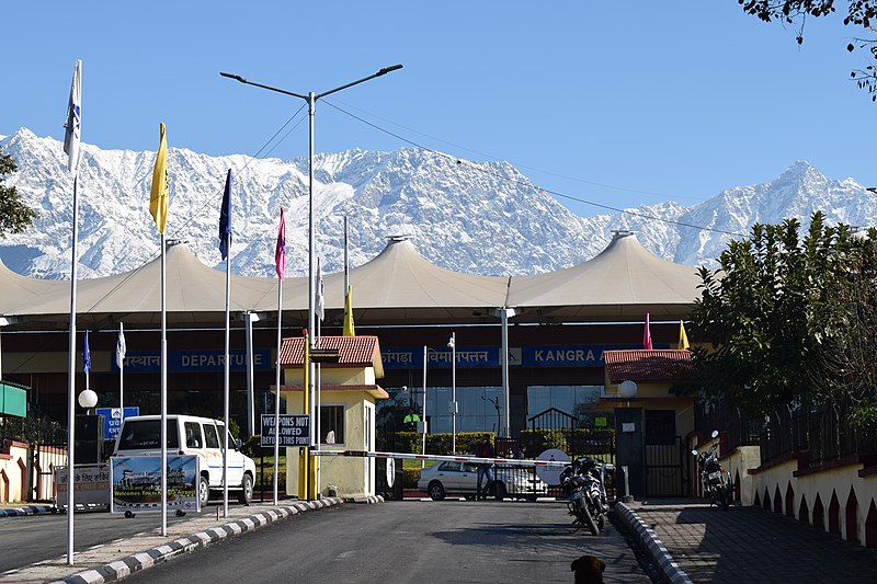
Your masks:
<path fill-rule="evenodd" d="M 201 263 L 183 243 L 170 245 L 167 311 L 170 323 L 217 323 L 225 313 L 225 272 Z M 343 317 L 343 273 L 323 276 L 327 323 Z M 699 296 L 697 268 L 661 260 L 630 232 L 617 233 L 596 257 L 534 276 L 477 276 L 438 267 L 407 238 L 390 238 L 384 251 L 350 272 L 357 324 L 496 322 L 496 309 L 514 308 L 516 322 L 581 322 L 683 318 Z M 307 320 L 307 277 L 283 282 L 284 319 Z M 274 312 L 277 278 L 231 276 L 230 311 Z M 158 325 L 160 259 L 77 286 L 79 322 Z M 0 316 L 65 322 L 69 282 L 15 274 L 0 263 Z"/>

